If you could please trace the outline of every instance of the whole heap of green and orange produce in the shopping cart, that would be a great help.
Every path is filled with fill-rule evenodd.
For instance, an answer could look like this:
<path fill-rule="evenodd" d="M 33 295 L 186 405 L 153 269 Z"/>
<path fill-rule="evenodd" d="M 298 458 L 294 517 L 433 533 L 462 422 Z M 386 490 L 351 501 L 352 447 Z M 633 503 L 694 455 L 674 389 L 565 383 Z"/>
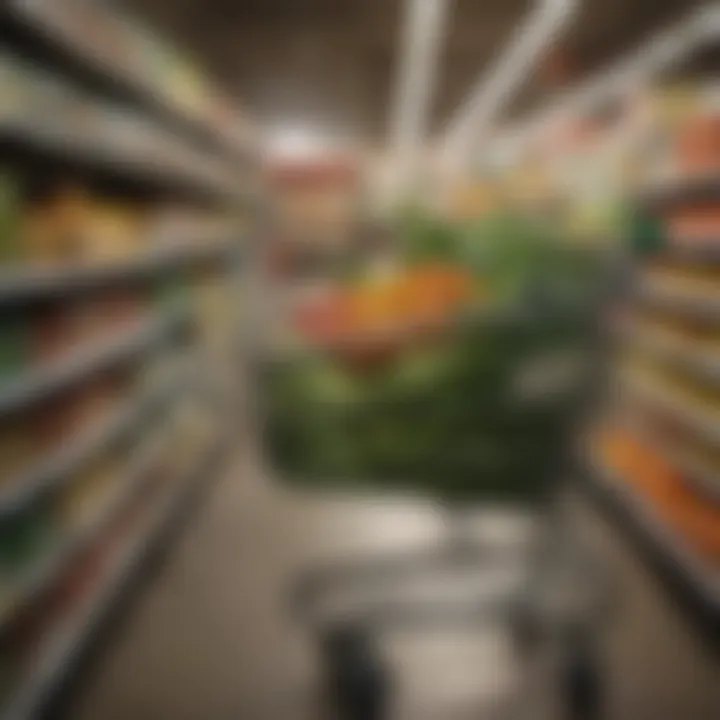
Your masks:
<path fill-rule="evenodd" d="M 268 372 L 271 457 L 308 483 L 447 499 L 542 493 L 583 385 L 568 373 L 561 391 L 535 382 L 533 394 L 527 379 L 564 367 L 558 353 L 585 357 L 586 258 L 506 216 L 414 214 L 399 228 L 399 270 L 298 312 L 320 352 Z"/>

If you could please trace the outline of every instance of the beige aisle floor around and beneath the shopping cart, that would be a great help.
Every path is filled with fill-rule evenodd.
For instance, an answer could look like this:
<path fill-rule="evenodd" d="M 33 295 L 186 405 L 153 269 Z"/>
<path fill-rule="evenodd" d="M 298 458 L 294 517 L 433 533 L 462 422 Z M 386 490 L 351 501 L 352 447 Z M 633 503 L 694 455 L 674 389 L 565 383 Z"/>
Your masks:
<path fill-rule="evenodd" d="M 720 717 L 716 659 L 614 532 L 594 519 L 587 525 L 603 539 L 621 588 L 605 634 L 608 717 Z M 320 720 L 309 644 L 283 607 L 289 578 L 310 558 L 412 544 L 441 528 L 429 504 L 292 496 L 268 488 L 246 463 L 236 462 L 132 605 L 68 717 Z M 492 710 L 493 692 L 503 681 L 497 666 L 483 666 L 487 652 L 472 661 L 462 655 L 462 667 L 455 669 L 444 664 L 443 682 L 437 663 L 417 661 L 417 646 L 408 657 L 416 659 L 403 665 L 415 673 L 414 682 L 406 683 L 415 698 L 398 710 L 399 717 L 489 715 L 483 709 Z M 460 687 L 459 679 L 468 676 L 471 686 Z M 539 720 L 537 707 L 530 717 Z"/>

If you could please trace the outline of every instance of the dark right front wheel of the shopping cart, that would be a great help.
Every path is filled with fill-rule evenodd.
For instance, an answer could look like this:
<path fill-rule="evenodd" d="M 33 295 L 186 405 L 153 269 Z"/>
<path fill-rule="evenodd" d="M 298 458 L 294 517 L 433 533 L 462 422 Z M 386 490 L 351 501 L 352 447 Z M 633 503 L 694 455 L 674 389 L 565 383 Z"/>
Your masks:
<path fill-rule="evenodd" d="M 567 720 L 600 720 L 605 688 L 600 652 L 589 632 L 577 633 L 570 639 L 561 673 Z"/>

